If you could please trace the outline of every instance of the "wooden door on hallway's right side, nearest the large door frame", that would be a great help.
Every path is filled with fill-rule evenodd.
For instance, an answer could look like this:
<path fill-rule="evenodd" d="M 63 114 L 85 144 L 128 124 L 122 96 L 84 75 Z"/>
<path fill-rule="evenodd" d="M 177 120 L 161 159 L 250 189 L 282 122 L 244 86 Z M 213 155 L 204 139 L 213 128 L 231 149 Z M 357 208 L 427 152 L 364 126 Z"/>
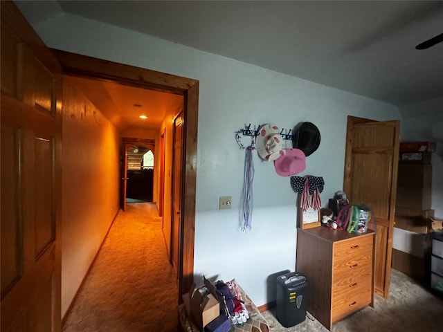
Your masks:
<path fill-rule="evenodd" d="M 174 119 L 173 160 L 172 160 L 172 225 L 171 225 L 171 263 L 179 278 L 181 259 L 181 160 L 183 154 L 183 116 Z"/>

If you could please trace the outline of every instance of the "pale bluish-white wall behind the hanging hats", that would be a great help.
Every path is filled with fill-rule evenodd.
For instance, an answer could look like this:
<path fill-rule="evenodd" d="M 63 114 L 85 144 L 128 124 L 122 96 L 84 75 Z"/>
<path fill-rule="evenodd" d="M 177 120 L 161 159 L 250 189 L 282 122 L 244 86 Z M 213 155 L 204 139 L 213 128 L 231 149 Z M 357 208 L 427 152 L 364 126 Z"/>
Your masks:
<path fill-rule="evenodd" d="M 400 118 L 390 104 L 80 17 L 61 15 L 36 30 L 52 48 L 200 81 L 195 273 L 236 278 L 259 306 L 273 300 L 266 297 L 266 278 L 295 268 L 296 194 L 289 178 L 254 154 L 252 230 L 238 230 L 244 151 L 234 131 L 248 123 L 291 129 L 314 122 L 322 141 L 300 175 L 325 178 L 326 205 L 343 185 L 347 115 Z M 218 210 L 219 196 L 233 196 L 232 210 Z"/>

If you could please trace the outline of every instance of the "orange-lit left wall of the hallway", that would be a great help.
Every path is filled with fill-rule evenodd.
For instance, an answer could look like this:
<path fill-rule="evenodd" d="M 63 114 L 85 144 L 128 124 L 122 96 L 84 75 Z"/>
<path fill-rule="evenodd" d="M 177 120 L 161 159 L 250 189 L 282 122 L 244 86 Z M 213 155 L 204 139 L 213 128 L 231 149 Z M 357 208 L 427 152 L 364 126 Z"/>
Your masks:
<path fill-rule="evenodd" d="M 64 77 L 62 317 L 119 210 L 120 134 Z"/>

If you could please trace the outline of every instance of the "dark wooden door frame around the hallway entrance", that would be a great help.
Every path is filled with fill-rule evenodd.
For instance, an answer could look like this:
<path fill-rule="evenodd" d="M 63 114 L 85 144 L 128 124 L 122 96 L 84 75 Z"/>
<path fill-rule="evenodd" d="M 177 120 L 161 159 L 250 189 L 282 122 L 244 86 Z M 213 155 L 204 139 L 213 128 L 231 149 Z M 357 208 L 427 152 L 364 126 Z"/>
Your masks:
<path fill-rule="evenodd" d="M 195 197 L 197 178 L 197 127 L 199 81 L 145 68 L 110 62 L 50 48 L 62 64 L 63 74 L 112 80 L 127 86 L 183 95 L 183 167 L 181 196 L 182 239 L 179 255 L 179 303 L 194 281 Z M 185 199 L 186 198 L 186 199 Z"/>

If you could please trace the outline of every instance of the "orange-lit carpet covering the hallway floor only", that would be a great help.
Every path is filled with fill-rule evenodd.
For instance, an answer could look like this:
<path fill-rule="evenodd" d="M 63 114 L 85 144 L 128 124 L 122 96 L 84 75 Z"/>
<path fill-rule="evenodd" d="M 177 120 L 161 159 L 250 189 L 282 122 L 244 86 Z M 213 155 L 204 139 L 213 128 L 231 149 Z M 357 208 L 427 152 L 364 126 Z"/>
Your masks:
<path fill-rule="evenodd" d="M 127 204 L 109 230 L 64 332 L 177 331 L 178 287 L 154 203 Z"/>

